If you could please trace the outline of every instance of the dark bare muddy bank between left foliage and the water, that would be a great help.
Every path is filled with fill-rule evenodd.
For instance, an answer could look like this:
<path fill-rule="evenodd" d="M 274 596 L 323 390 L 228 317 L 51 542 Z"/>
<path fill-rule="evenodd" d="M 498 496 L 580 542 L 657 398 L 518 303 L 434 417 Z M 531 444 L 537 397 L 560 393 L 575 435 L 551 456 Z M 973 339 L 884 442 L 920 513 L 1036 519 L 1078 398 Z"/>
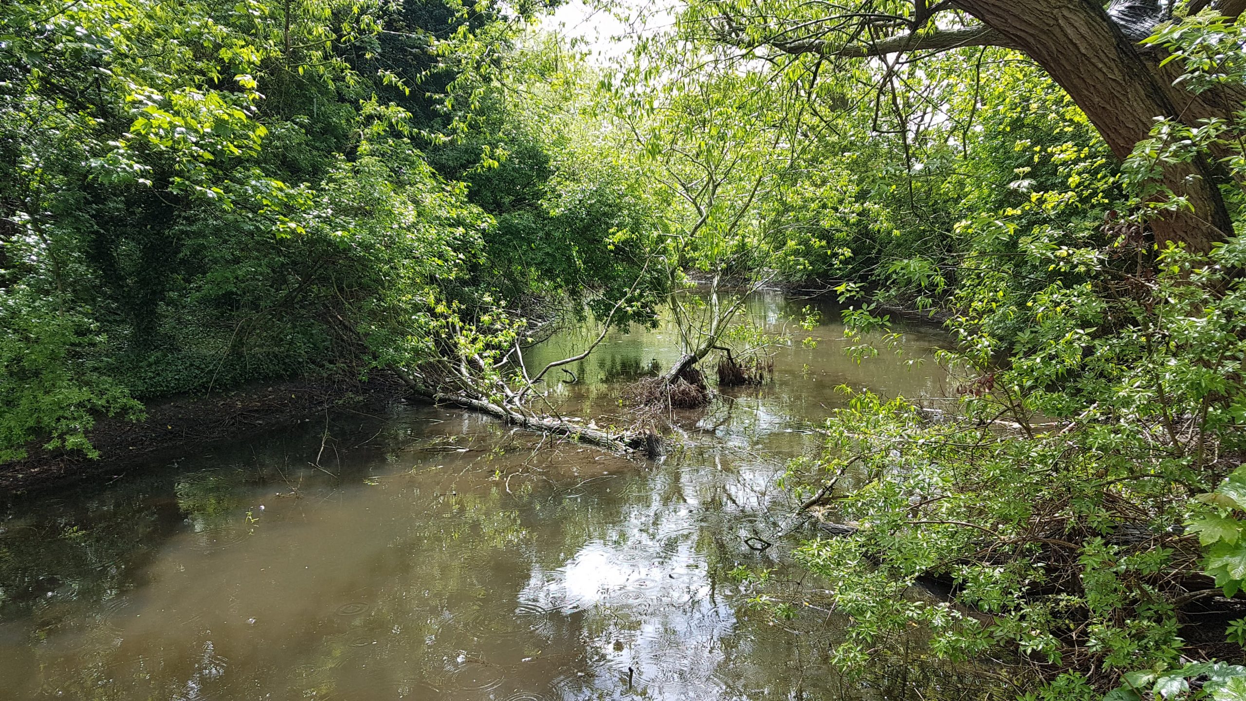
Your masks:
<path fill-rule="evenodd" d="M 381 407 L 407 394 L 396 377 L 255 383 L 207 397 L 176 397 L 147 404 L 143 422 L 103 417 L 88 434 L 96 459 L 32 447 L 25 460 L 0 465 L 0 494 L 35 491 L 76 479 L 122 474 L 140 460 L 238 439 L 310 420 L 330 409 Z"/>

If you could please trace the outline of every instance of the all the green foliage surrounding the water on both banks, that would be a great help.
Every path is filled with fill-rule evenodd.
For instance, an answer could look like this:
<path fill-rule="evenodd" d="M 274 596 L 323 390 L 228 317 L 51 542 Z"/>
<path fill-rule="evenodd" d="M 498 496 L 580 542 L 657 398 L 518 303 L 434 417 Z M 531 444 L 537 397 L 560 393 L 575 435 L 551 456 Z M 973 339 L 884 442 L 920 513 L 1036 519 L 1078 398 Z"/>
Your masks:
<path fill-rule="evenodd" d="M 926 37 L 925 2 L 849 5 Z M 432 360 L 522 410 L 507 359 L 557 308 L 665 303 L 690 367 L 744 292 L 816 287 L 855 332 L 938 314 L 961 375 L 939 412 L 854 395 L 790 470 L 841 526 L 797 556 L 845 670 L 921 627 L 1023 699 L 1246 697 L 1246 27 L 1176 6 L 1156 70 L 1229 107 L 1146 115 L 1121 160 L 1015 50 L 807 51 L 749 2 L 688 0 L 611 67 L 522 2 L 7 4 L 0 462 L 90 453 L 140 400 Z M 1209 249 L 1171 236 L 1187 171 L 1237 227 Z"/>

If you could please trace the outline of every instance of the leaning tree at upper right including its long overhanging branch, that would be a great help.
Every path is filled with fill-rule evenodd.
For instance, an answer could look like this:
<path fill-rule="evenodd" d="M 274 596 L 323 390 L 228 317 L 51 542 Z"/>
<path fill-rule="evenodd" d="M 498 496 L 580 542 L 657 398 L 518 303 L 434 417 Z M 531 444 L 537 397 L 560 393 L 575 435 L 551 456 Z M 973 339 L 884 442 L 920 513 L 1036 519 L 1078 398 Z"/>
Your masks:
<path fill-rule="evenodd" d="M 1179 16 L 1174 17 L 1176 5 Z M 834 7 L 827 11 L 826 7 Z M 698 0 L 688 17 L 713 37 L 774 59 L 821 60 L 906 54 L 910 60 L 966 46 L 1023 51 L 1068 91 L 1104 140 L 1125 157 L 1156 117 L 1195 125 L 1241 109 L 1246 90 L 1202 94 L 1175 84 L 1180 69 L 1140 44 L 1164 21 L 1202 10 L 1237 17 L 1246 0 L 856 0 L 841 5 L 790 0 Z M 1171 163 L 1165 186 L 1186 207 L 1153 221 L 1160 241 L 1206 251 L 1232 232 L 1221 176 L 1206 160 Z"/>

